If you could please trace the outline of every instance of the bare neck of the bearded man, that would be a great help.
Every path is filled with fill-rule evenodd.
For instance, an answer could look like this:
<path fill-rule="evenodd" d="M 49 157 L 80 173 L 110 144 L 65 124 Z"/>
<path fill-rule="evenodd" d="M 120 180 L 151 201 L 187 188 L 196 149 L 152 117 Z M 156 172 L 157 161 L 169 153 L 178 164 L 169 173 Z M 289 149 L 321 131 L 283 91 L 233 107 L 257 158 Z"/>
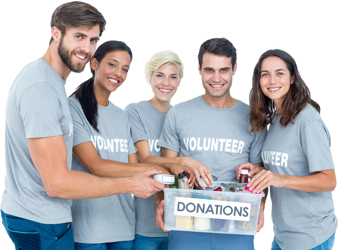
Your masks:
<path fill-rule="evenodd" d="M 72 73 L 61 60 L 57 52 L 58 43 L 52 41 L 41 59 L 48 62 L 48 64 L 61 76 L 62 79 L 67 80 Z"/>

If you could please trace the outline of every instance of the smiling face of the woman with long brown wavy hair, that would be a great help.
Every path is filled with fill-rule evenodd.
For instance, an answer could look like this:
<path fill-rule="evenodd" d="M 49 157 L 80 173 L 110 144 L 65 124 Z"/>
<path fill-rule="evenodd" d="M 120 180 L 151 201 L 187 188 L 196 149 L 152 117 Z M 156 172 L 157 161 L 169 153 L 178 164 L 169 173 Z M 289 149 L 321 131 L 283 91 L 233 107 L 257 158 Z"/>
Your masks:
<path fill-rule="evenodd" d="M 277 109 L 293 82 L 294 76 L 290 75 L 283 59 L 270 56 L 262 61 L 261 79 L 259 81 L 261 90 L 264 95 L 273 100 Z"/>

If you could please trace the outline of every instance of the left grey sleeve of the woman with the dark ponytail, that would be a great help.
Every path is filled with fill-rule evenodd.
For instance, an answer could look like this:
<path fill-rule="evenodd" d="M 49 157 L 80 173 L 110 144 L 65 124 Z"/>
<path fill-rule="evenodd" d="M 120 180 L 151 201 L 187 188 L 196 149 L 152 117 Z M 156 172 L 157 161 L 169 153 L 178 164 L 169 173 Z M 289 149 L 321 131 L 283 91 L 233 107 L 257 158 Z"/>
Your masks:
<path fill-rule="evenodd" d="M 88 121 L 83 114 L 82 108 L 80 109 L 70 101 L 69 108 L 73 120 L 73 147 L 81 143 L 91 142 L 89 131 L 84 124 L 84 122 L 88 123 Z"/>

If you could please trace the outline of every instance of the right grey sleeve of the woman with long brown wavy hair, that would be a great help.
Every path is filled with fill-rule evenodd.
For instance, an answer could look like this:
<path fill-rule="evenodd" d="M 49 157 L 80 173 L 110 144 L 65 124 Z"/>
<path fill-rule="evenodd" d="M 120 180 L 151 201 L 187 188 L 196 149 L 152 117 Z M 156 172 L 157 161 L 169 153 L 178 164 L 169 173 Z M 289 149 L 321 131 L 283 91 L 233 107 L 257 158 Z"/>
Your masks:
<path fill-rule="evenodd" d="M 316 121 L 301 135 L 301 146 L 308 158 L 309 172 L 335 169 L 331 151 L 331 134 L 325 123 Z"/>

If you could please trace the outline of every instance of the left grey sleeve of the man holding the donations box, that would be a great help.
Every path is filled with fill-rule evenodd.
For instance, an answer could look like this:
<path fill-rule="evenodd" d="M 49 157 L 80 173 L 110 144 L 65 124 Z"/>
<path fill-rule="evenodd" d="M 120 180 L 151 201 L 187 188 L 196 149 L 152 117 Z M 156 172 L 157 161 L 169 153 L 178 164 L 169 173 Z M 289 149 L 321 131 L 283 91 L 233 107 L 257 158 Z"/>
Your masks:
<path fill-rule="evenodd" d="M 180 141 L 177 133 L 175 107 L 171 108 L 166 116 L 160 135 L 160 140 L 157 145 L 163 148 L 170 149 L 177 153 L 179 153 L 180 151 Z"/>

